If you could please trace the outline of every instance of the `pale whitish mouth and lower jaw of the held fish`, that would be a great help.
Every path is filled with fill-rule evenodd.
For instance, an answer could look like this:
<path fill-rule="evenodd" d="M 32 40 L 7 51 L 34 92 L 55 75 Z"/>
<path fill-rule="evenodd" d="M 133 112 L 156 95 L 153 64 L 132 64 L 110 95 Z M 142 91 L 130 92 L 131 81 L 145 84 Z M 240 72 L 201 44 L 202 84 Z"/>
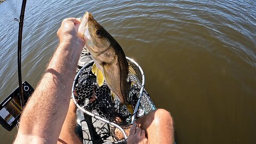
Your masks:
<path fill-rule="evenodd" d="M 89 18 L 91 17 L 92 14 L 86 11 L 78 27 L 78 36 L 84 39 L 87 46 L 92 45 L 92 37 L 89 32 Z"/>

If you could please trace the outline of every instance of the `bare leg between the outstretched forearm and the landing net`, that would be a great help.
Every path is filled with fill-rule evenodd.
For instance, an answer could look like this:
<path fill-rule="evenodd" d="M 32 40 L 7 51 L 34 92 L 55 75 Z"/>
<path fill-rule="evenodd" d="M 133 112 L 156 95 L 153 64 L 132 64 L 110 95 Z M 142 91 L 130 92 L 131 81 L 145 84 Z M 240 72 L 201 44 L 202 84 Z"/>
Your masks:
<path fill-rule="evenodd" d="M 77 137 L 76 131 L 76 105 L 73 99 L 69 102 L 68 114 L 62 125 L 60 137 L 57 143 L 82 143 Z"/>

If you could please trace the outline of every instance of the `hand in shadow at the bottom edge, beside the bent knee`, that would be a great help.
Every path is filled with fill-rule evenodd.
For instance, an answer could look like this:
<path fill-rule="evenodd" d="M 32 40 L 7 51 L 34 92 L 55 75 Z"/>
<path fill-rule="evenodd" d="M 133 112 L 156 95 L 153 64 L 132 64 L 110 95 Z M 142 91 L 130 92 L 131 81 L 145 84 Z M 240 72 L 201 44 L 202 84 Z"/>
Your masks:
<path fill-rule="evenodd" d="M 148 143 L 148 139 L 146 138 L 146 131 L 141 130 L 140 127 L 137 127 L 137 124 L 134 123 L 130 129 L 127 143 L 128 144 Z"/>

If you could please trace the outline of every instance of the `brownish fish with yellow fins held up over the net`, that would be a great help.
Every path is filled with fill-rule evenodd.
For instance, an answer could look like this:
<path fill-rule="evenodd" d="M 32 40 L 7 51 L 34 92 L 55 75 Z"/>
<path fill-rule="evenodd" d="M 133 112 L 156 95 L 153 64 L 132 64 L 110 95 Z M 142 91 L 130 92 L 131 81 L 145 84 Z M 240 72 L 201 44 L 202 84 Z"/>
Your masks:
<path fill-rule="evenodd" d="M 103 85 L 105 81 L 121 104 L 126 105 L 131 112 L 132 107 L 127 100 L 131 87 L 128 77 L 131 68 L 122 47 L 87 11 L 78 27 L 78 36 L 84 39 L 94 60 L 92 72 L 97 76 L 98 85 Z"/>

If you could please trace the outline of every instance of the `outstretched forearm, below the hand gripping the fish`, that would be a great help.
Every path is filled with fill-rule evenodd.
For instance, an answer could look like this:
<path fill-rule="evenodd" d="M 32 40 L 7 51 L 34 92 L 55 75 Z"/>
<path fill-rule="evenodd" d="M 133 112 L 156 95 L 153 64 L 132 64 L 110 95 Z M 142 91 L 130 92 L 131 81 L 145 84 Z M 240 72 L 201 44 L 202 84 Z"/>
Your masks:
<path fill-rule="evenodd" d="M 41 82 L 23 110 L 15 141 L 19 139 L 21 142 L 26 140 L 21 138 L 27 137 L 38 139 L 37 143 L 57 142 L 82 51 L 77 50 L 74 43 L 61 43 L 57 48 Z"/>

